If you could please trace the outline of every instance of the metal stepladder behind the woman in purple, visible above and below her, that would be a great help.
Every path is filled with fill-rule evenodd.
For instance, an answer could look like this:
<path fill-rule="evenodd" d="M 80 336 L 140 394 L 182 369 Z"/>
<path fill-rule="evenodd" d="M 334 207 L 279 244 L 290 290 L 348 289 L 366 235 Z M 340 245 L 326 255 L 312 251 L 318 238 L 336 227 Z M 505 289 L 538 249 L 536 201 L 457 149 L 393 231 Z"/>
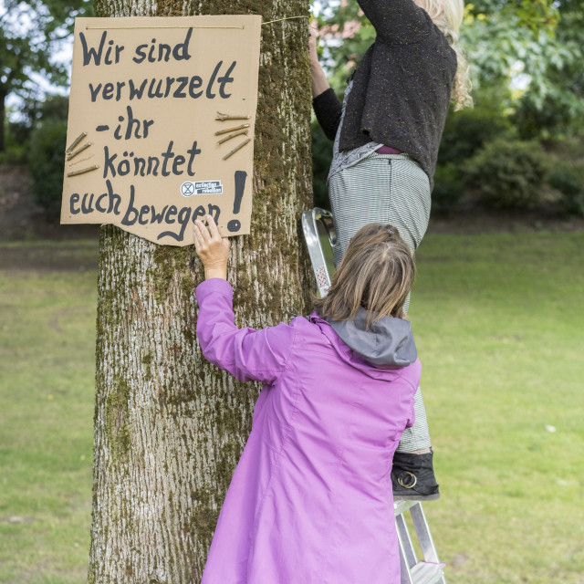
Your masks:
<path fill-rule="evenodd" d="M 317 279 L 318 295 L 324 297 L 335 274 L 332 247 L 337 241 L 337 235 L 332 214 L 318 207 L 305 211 L 302 214 L 302 230 Z M 412 537 L 403 516 L 407 511 L 412 516 L 415 535 L 422 549 L 422 560 L 416 557 Z M 401 584 L 446 584 L 443 577 L 445 564 L 438 560 L 422 503 L 398 501 L 394 504 L 394 512 L 400 542 Z"/>

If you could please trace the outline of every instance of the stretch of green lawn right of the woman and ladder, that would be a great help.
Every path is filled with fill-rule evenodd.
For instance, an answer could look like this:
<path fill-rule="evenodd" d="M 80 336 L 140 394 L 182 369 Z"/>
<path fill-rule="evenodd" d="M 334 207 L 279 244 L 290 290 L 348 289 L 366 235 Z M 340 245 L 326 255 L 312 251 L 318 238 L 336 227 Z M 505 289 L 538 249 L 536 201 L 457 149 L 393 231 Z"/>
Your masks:
<path fill-rule="evenodd" d="M 584 582 L 584 234 L 429 236 L 411 318 L 449 583 Z M 553 431 L 555 429 L 555 432 Z"/>

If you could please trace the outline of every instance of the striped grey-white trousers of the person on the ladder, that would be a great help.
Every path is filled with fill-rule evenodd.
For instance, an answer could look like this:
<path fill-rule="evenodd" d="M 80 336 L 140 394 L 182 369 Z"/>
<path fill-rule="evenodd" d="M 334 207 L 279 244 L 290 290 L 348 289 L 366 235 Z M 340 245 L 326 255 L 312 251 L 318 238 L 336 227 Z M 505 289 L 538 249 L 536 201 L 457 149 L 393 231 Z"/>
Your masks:
<path fill-rule="evenodd" d="M 338 266 L 349 241 L 363 225 L 391 224 L 413 253 L 422 241 L 430 218 L 430 181 L 407 154 L 373 152 L 354 166 L 330 177 L 328 196 L 337 232 L 334 247 Z M 410 298 L 404 307 L 407 312 Z M 398 452 L 429 448 L 430 433 L 422 390 L 414 396 L 415 422 L 401 436 Z"/>

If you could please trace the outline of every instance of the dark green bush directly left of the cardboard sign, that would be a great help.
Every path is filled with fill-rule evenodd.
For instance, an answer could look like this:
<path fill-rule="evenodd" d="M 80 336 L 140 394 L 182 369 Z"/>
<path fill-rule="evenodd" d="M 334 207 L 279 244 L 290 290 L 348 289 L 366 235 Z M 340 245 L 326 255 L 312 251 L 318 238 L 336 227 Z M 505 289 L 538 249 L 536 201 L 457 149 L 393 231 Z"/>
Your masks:
<path fill-rule="evenodd" d="M 33 193 L 50 219 L 57 218 L 61 207 L 67 124 L 49 119 L 32 131 L 28 167 L 33 177 Z"/>

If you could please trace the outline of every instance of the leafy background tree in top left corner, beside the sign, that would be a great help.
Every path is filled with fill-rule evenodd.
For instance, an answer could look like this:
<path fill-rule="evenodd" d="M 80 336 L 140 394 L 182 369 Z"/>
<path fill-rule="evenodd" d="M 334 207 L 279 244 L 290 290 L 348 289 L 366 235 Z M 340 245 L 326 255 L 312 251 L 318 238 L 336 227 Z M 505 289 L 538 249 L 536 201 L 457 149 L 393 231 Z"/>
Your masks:
<path fill-rule="evenodd" d="M 27 97 L 35 74 L 65 85 L 68 71 L 53 57 L 73 31 L 76 16 L 91 11 L 89 0 L 2 0 L 0 3 L 0 152 L 5 151 L 5 100 Z"/>

